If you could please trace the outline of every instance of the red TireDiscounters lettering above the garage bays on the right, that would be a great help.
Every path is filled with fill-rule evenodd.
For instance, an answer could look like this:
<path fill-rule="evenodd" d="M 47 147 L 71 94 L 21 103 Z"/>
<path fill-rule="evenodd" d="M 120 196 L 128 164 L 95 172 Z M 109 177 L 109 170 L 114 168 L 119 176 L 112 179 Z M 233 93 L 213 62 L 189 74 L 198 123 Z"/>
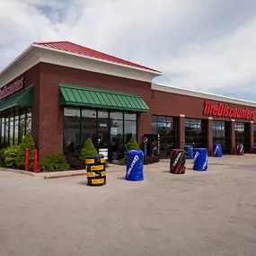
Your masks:
<path fill-rule="evenodd" d="M 209 101 L 205 101 L 203 110 L 203 114 L 206 116 L 251 120 L 255 119 L 255 112 L 248 108 L 232 108 L 223 102 L 212 104 Z"/>

